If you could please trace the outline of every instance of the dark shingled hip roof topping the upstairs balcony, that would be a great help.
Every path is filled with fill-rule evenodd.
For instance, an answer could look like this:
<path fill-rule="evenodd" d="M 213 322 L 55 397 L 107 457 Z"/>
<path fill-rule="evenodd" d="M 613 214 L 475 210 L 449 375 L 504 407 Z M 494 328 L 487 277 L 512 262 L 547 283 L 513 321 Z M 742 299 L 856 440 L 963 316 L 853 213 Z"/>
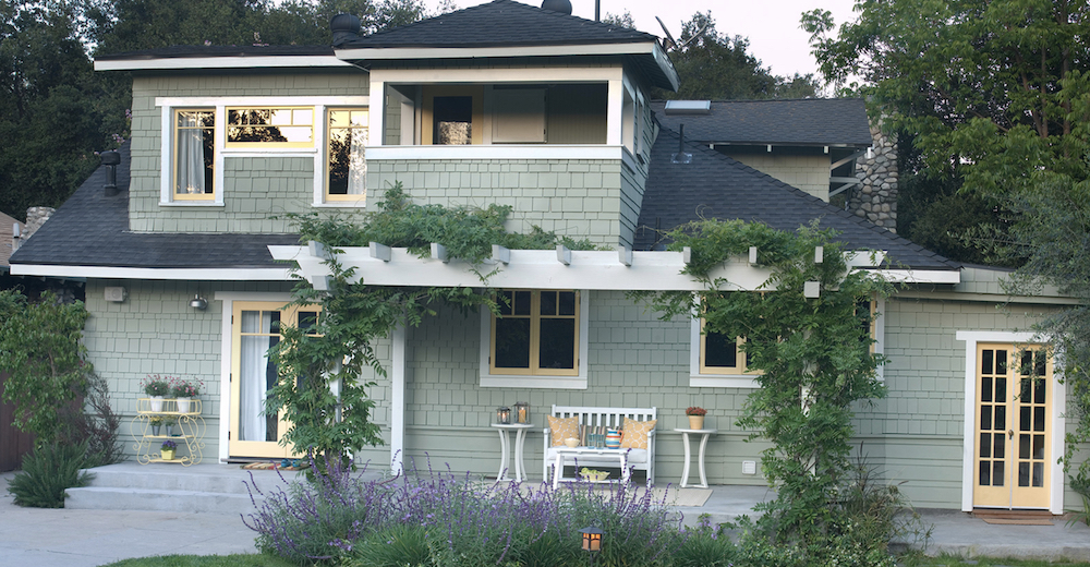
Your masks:
<path fill-rule="evenodd" d="M 495 0 L 360 37 L 338 47 L 493 47 L 655 40 L 655 36 L 635 29 L 513 0 Z"/>

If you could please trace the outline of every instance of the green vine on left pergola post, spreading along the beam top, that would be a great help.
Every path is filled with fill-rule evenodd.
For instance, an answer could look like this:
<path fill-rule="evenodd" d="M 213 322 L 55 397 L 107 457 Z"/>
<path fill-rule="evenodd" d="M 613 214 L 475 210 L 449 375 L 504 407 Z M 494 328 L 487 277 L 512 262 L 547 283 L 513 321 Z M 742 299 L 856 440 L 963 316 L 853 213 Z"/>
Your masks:
<path fill-rule="evenodd" d="M 302 242 L 320 242 L 334 254 L 325 261 L 331 272 L 328 291 L 315 290 L 300 277 L 292 292 L 290 305 L 322 306 L 316 325 L 282 328 L 282 340 L 269 352 L 280 381 L 269 390 L 265 411 L 282 411 L 292 423 L 282 444 L 296 453 L 324 457 L 316 462 L 348 458 L 365 446 L 380 445 L 380 429 L 373 421 L 375 401 L 367 395 L 376 383 L 359 378 L 367 367 L 386 376 L 376 343 L 389 338 L 398 325 L 420 326 L 443 305 L 463 312 L 498 312 L 485 264 L 493 244 L 513 250 L 547 250 L 557 244 L 593 249 L 589 241 L 558 237 L 538 227 L 524 234 L 507 232 L 504 224 L 510 214 L 510 207 L 495 204 L 486 208 L 421 205 L 398 183 L 386 192 L 375 213 L 351 218 L 287 215 Z M 343 246 L 370 242 L 407 248 L 420 257 L 428 256 L 431 243 L 443 244 L 450 257 L 475 266 L 482 285 L 370 286 L 358 280 L 354 268 L 346 268 L 336 258 Z"/>

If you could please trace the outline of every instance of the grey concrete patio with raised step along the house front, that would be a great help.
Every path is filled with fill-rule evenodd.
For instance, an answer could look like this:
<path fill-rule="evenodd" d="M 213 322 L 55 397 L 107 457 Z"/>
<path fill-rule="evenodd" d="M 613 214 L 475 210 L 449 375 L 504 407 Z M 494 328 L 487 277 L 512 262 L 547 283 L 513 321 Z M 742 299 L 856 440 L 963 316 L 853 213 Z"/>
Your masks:
<path fill-rule="evenodd" d="M 254 532 L 240 516 L 253 509 L 243 485 L 251 478 L 250 471 L 237 465 L 182 468 L 121 463 L 95 472 L 97 485 L 72 491 L 64 509 L 21 508 L 3 491 L 0 557 L 5 564 L 89 567 L 161 554 L 256 551 Z M 0 474 L 0 486 L 5 487 L 13 475 Z M 279 483 L 272 471 L 255 471 L 254 478 L 265 488 Z M 177 486 L 169 486 L 169 479 Z M 729 521 L 773 496 L 762 486 L 713 485 L 708 491 L 703 506 L 675 508 L 683 514 L 686 523 L 694 523 L 702 514 L 708 514 L 713 522 Z M 1085 524 L 1067 527 L 1062 518 L 1053 526 L 996 526 L 959 511 L 921 514 L 924 523 L 933 528 L 925 550 L 929 555 L 1090 562 L 1090 529 Z"/>

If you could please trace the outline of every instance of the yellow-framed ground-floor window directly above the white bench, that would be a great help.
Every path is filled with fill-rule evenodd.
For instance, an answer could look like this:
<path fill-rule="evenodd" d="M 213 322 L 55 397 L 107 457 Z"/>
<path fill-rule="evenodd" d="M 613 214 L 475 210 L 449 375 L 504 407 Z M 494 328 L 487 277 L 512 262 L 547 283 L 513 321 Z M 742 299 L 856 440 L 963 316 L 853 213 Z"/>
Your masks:
<path fill-rule="evenodd" d="M 492 317 L 492 374 L 576 376 L 579 374 L 579 292 L 499 292 Z"/>

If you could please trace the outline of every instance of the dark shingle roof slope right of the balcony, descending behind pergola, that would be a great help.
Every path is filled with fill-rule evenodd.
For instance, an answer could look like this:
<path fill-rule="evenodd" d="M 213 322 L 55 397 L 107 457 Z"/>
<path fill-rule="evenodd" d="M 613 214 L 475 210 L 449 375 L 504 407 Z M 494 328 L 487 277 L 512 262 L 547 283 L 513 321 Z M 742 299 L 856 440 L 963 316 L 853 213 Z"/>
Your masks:
<path fill-rule="evenodd" d="M 688 134 L 689 128 L 686 126 Z M 688 136 L 687 136 L 688 137 Z M 663 130 L 651 150 L 651 169 L 635 232 L 635 249 L 652 250 L 655 227 L 690 220 L 740 219 L 795 231 L 813 219 L 839 232 L 855 250 L 885 251 L 894 268 L 957 269 L 958 264 L 863 218 L 829 205 L 706 146 L 686 143 L 690 164 L 673 164 L 678 134 Z"/>

